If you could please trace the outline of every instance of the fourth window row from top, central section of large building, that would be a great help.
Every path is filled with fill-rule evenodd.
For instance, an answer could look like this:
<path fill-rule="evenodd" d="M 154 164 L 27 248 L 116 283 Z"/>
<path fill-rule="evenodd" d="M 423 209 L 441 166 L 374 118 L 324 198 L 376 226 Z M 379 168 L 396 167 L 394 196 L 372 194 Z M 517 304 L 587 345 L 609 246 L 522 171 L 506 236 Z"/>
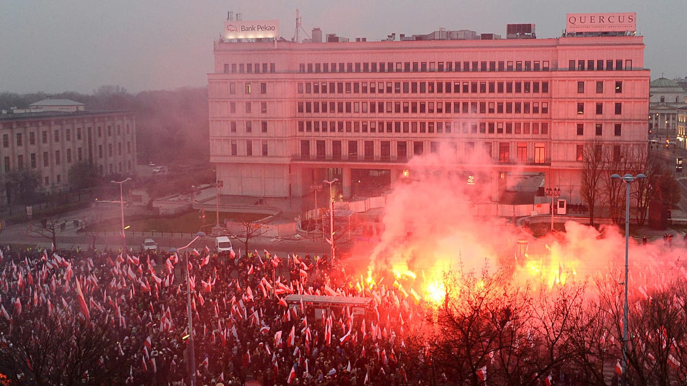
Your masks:
<path fill-rule="evenodd" d="M 299 133 L 471 133 L 548 135 L 548 122 L 298 121 Z"/>

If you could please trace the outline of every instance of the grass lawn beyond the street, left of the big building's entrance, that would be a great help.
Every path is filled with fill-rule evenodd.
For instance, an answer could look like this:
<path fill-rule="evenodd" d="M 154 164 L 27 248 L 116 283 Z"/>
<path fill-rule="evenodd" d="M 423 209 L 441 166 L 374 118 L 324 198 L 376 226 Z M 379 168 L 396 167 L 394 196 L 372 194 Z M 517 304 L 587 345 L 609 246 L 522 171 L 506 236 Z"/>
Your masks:
<path fill-rule="evenodd" d="M 224 223 L 225 218 L 231 218 L 236 221 L 255 221 L 266 217 L 264 214 L 254 213 L 235 213 L 235 212 L 219 212 L 220 224 Z M 151 218 L 130 218 L 124 214 L 124 225 L 128 225 L 127 231 L 131 232 L 183 232 L 194 233 L 199 230 L 210 231 L 215 225 L 216 212 L 205 212 L 205 226 L 203 226 L 203 218 L 198 211 L 188 212 L 174 217 L 151 217 Z M 122 225 L 120 220 L 112 221 L 107 224 L 96 225 L 102 227 L 106 231 L 120 231 Z"/>

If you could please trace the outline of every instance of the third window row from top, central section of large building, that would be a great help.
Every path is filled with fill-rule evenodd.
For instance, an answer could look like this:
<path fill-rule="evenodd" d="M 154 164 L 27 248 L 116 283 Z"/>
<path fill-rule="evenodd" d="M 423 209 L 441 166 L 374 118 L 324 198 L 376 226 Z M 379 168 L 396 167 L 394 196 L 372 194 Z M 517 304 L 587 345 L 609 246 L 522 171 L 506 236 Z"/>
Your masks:
<path fill-rule="evenodd" d="M 600 103 L 598 103 L 600 104 Z M 597 105 L 598 105 L 597 104 Z M 541 106 L 541 109 L 540 109 Z M 548 114 L 548 102 L 298 102 L 298 113 Z"/>

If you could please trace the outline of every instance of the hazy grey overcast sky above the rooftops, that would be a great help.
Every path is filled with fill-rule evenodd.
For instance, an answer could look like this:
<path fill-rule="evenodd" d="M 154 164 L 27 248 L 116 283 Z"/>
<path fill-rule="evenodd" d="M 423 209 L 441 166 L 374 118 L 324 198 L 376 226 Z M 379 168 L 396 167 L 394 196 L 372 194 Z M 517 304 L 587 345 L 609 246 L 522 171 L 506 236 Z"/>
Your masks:
<path fill-rule="evenodd" d="M 304 29 L 380 40 L 439 27 L 506 35 L 508 23 L 534 23 L 537 37 L 561 36 L 566 13 L 637 12 L 651 78 L 687 76 L 685 0 L 0 0 L 0 92 L 78 91 L 102 84 L 130 92 L 207 84 L 212 42 L 227 11 L 243 20 L 279 19 L 293 37 Z M 304 36 L 304 34 L 301 34 Z"/>

